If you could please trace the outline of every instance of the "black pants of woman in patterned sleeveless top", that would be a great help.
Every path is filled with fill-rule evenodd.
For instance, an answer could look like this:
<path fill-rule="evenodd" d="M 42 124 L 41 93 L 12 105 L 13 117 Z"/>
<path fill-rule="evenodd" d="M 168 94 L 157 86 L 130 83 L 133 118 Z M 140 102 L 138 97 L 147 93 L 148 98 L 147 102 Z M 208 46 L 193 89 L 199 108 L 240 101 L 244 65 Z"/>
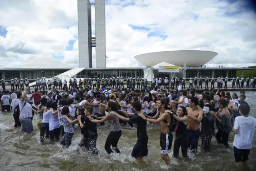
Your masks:
<path fill-rule="evenodd" d="M 105 142 L 105 150 L 108 154 L 113 152 L 113 150 L 115 150 L 117 153 L 120 153 L 120 150 L 117 148 L 117 143 L 119 141 L 119 138 L 121 137 L 121 134 L 121 130 L 117 132 L 110 131 L 109 136 L 107 137 Z M 113 150 L 110 148 L 111 145 Z"/>

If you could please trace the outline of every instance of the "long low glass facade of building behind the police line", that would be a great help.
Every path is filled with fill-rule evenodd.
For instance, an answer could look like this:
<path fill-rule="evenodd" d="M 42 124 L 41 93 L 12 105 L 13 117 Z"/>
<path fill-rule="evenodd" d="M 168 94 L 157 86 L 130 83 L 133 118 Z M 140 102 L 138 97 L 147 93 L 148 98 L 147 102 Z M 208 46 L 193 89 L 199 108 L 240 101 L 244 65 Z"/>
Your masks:
<path fill-rule="evenodd" d="M 53 69 L 44 69 L 44 70 L 0 70 L 0 79 L 4 80 L 11 80 L 12 78 L 28 78 L 29 80 L 36 80 L 36 78 L 52 78 L 58 74 L 64 73 L 68 71 L 69 69 L 60 69 L 60 70 L 53 70 Z M 241 69 L 237 69 L 241 70 Z M 228 78 L 233 78 L 237 77 L 237 70 L 228 70 Z M 159 74 L 164 74 L 164 73 L 158 73 L 158 70 L 153 70 L 154 71 L 154 76 L 159 76 Z M 195 77 L 202 77 L 202 78 L 211 78 L 212 77 L 212 72 L 214 71 L 214 77 L 223 77 L 225 78 L 227 75 L 227 69 L 209 69 L 209 70 L 197 70 L 197 69 L 187 69 L 186 71 L 186 78 L 195 78 Z M 126 78 L 143 78 L 143 68 L 141 69 L 114 69 L 114 68 L 108 68 L 105 70 L 92 70 L 92 69 L 85 69 L 78 73 L 75 77 L 76 78 L 112 78 L 112 77 L 123 77 L 124 79 Z M 173 76 L 173 73 L 165 73 L 169 75 L 170 77 Z M 183 77 L 183 75 L 182 75 Z"/>

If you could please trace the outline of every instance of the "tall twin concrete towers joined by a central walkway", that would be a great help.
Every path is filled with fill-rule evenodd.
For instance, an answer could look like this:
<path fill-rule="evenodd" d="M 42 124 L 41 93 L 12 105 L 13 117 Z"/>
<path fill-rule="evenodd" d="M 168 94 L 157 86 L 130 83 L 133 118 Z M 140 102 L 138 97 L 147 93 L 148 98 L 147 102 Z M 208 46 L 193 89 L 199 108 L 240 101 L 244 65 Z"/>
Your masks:
<path fill-rule="evenodd" d="M 105 0 L 77 0 L 79 67 L 92 67 L 92 47 L 96 48 L 96 67 L 106 67 Z M 95 37 L 91 29 L 91 5 L 95 5 Z"/>

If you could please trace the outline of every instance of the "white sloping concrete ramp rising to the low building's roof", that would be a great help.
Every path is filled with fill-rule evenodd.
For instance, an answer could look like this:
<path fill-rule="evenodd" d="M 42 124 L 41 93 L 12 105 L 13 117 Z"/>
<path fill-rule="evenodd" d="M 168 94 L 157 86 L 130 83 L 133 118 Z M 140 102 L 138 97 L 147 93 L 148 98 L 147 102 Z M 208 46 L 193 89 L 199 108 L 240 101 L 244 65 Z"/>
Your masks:
<path fill-rule="evenodd" d="M 73 68 L 71 70 L 68 70 L 62 74 L 59 74 L 59 75 L 56 75 L 52 78 L 45 78 L 46 82 L 48 80 L 51 80 L 53 82 L 53 79 L 54 78 L 57 78 L 57 79 L 61 79 L 62 82 L 64 81 L 64 79 L 67 80 L 67 82 L 69 81 L 70 78 L 74 78 L 76 76 L 76 74 L 78 74 L 79 72 L 83 71 L 85 68 Z M 41 79 L 40 79 L 41 80 Z M 69 85 L 69 82 L 68 82 L 68 85 Z M 30 87 L 35 87 L 36 86 L 36 82 L 31 82 L 29 84 Z"/>

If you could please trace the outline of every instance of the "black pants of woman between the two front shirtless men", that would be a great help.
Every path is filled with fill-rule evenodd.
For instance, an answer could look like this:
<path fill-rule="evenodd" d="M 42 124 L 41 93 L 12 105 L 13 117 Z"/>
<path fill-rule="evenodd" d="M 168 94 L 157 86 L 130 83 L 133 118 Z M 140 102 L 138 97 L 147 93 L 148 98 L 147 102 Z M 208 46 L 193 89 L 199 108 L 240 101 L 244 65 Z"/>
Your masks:
<path fill-rule="evenodd" d="M 183 135 L 181 138 L 175 137 L 173 146 L 173 156 L 177 157 L 179 154 L 179 149 L 181 147 L 181 153 L 183 157 L 188 157 L 188 134 Z"/>

